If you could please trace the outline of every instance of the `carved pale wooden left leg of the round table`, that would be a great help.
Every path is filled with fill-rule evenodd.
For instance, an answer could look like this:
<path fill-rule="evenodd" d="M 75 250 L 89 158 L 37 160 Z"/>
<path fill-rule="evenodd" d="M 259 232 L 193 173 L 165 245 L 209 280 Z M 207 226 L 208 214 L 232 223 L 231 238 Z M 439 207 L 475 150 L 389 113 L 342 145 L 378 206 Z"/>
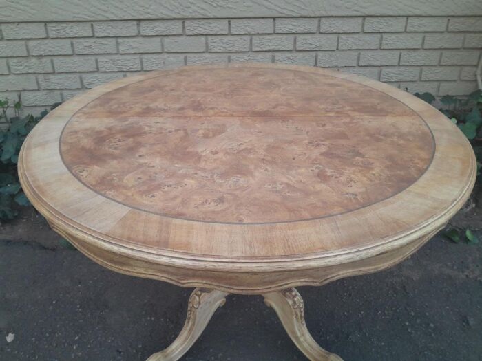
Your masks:
<path fill-rule="evenodd" d="M 194 289 L 187 305 L 187 317 L 179 336 L 167 349 L 154 353 L 147 361 L 179 360 L 196 342 L 207 326 L 214 311 L 224 305 L 227 292 L 211 289 Z"/>

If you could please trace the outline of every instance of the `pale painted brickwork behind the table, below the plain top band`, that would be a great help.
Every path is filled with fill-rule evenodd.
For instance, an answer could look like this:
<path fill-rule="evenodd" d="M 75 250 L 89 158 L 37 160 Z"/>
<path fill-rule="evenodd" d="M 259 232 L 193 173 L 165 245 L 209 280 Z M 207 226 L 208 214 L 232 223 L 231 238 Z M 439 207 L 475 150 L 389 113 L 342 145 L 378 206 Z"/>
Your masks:
<path fill-rule="evenodd" d="M 181 65 L 329 67 L 410 92 L 476 89 L 482 17 L 295 17 L 2 23 L 0 97 L 30 111 L 102 83 Z"/>

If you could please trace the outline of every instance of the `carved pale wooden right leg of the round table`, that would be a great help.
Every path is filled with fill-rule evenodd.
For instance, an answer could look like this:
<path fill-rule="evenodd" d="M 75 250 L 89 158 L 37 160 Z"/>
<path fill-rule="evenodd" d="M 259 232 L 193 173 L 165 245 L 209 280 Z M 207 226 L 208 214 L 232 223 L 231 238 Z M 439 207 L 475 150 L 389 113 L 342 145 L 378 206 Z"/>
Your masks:
<path fill-rule="evenodd" d="M 281 323 L 304 355 L 312 361 L 343 361 L 342 358 L 319 347 L 306 328 L 303 298 L 295 288 L 263 294 L 264 303 L 272 307 Z"/>

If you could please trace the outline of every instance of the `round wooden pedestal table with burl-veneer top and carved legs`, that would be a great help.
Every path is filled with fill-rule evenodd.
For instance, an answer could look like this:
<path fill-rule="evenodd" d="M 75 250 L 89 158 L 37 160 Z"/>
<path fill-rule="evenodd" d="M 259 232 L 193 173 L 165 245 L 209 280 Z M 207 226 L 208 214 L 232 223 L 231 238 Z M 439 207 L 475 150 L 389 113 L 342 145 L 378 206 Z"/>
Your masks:
<path fill-rule="evenodd" d="M 457 127 L 405 91 L 231 64 L 76 96 L 30 133 L 19 175 L 97 263 L 198 287 L 180 335 L 149 361 L 178 360 L 229 293 L 262 294 L 307 358 L 341 360 L 308 333 L 293 287 L 405 259 L 461 208 L 476 165 Z"/>

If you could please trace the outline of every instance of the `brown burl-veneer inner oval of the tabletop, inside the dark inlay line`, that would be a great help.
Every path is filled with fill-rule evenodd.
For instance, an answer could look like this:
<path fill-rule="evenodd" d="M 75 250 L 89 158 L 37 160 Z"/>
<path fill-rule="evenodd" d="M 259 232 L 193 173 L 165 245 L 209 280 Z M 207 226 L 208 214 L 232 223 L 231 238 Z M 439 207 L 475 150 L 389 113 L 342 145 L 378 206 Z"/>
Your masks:
<path fill-rule="evenodd" d="M 101 195 L 225 223 L 300 221 L 377 203 L 414 183 L 433 152 L 430 129 L 408 106 L 295 69 L 153 76 L 85 105 L 61 137 L 65 166 Z"/>

